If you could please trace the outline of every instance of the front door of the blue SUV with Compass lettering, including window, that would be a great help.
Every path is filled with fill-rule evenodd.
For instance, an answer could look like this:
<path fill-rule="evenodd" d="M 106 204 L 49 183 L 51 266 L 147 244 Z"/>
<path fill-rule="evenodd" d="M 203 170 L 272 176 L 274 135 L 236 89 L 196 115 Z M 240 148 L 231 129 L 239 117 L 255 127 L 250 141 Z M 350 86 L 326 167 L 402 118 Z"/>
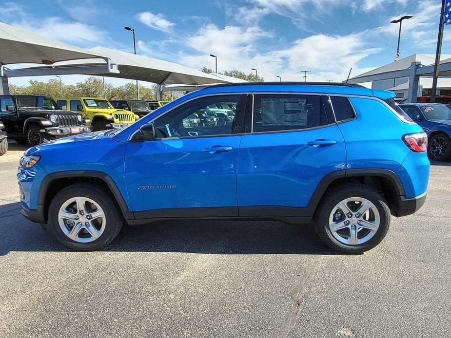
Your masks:
<path fill-rule="evenodd" d="M 246 95 L 189 101 L 154 120 L 156 139 L 130 141 L 125 171 L 137 218 L 237 216 L 236 169 Z M 196 113 L 235 103 L 224 125 L 202 123 Z"/>

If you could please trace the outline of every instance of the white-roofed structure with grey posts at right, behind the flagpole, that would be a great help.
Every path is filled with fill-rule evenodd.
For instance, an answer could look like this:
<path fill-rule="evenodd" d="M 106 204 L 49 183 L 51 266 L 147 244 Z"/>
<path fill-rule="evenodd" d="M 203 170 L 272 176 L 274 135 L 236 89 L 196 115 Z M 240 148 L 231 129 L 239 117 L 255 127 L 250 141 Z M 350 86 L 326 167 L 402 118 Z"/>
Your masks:
<path fill-rule="evenodd" d="M 372 89 L 389 90 L 397 97 L 416 102 L 417 96 L 431 95 L 434 54 L 414 54 L 398 61 L 353 76 L 349 83 Z M 442 54 L 437 95 L 451 95 L 451 55 Z"/>

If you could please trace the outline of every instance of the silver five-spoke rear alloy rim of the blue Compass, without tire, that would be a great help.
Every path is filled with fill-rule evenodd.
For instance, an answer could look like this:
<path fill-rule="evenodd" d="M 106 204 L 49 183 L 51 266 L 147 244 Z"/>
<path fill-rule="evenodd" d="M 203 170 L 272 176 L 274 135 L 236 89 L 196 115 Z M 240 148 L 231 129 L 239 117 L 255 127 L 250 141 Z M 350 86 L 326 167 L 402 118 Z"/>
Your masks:
<path fill-rule="evenodd" d="M 380 216 L 376 206 L 361 197 L 344 199 L 333 207 L 329 216 L 329 229 L 333 237 L 348 245 L 368 242 L 379 225 Z"/>

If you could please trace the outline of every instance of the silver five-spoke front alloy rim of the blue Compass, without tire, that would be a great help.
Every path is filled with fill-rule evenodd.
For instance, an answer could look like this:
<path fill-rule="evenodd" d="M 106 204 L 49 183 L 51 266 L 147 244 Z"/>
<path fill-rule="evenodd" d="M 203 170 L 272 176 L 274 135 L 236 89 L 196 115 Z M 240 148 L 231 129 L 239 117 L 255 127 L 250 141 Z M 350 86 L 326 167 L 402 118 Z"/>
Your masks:
<path fill-rule="evenodd" d="M 59 227 L 71 240 L 89 243 L 97 240 L 106 225 L 100 205 L 87 197 L 73 197 L 62 204 L 58 212 Z"/>

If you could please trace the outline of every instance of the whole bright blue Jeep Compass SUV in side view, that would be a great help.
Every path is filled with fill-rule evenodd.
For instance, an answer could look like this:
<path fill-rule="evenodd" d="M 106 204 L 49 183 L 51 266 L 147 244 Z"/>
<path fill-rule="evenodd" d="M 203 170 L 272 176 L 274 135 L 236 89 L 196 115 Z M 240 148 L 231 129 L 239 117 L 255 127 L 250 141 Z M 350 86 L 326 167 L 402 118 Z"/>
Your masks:
<path fill-rule="evenodd" d="M 127 128 L 28 149 L 22 213 L 78 250 L 109 244 L 124 223 L 195 218 L 314 220 L 334 250 L 363 252 L 426 198 L 427 135 L 393 96 L 339 83 L 201 89 Z M 211 107 L 233 118 L 186 121 Z"/>

